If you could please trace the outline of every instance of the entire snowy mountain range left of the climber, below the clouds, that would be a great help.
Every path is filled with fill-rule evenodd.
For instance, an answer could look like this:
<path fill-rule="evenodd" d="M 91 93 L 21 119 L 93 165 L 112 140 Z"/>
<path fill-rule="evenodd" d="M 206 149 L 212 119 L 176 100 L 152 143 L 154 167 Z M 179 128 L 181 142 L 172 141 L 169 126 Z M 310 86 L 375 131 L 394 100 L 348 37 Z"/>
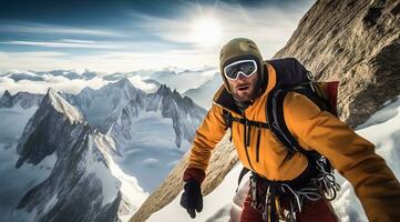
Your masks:
<path fill-rule="evenodd" d="M 187 151 L 206 111 L 164 84 L 146 93 L 131 79 L 78 94 L 4 91 L 0 194 L 13 201 L 0 199 L 0 221 L 132 216 Z"/>

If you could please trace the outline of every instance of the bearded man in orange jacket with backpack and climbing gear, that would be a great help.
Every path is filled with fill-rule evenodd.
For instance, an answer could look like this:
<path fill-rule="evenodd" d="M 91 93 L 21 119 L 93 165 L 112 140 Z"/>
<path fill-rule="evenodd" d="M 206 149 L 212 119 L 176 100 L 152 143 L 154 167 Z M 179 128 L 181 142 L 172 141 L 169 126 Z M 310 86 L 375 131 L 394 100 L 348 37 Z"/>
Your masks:
<path fill-rule="evenodd" d="M 339 190 L 334 169 L 352 184 L 369 221 L 400 221 L 399 181 L 375 145 L 336 117 L 332 82 L 312 81 L 293 58 L 264 61 L 245 38 L 223 47 L 219 69 L 224 85 L 196 131 L 183 175 L 181 205 L 192 218 L 203 209 L 212 151 L 230 129 L 252 172 L 242 222 L 338 221 L 329 202 Z"/>

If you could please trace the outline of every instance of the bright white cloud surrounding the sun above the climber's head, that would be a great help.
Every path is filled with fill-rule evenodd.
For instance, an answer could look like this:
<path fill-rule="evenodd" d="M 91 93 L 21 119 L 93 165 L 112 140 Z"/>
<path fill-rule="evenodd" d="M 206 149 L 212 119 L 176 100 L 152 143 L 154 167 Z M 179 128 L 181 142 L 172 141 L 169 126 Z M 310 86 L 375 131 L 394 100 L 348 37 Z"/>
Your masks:
<path fill-rule="evenodd" d="M 301 3 L 304 7 L 299 7 Z M 286 44 L 298 21 L 311 3 L 312 0 L 300 0 L 288 3 L 285 9 L 274 4 L 245 8 L 240 4 L 226 2 L 218 2 L 214 6 L 186 3 L 181 6 L 180 10 L 186 10 L 187 16 L 174 20 L 141 13 L 134 13 L 132 17 L 141 21 L 135 24 L 140 29 L 152 32 L 170 42 L 192 44 L 192 49 L 204 50 L 208 53 L 218 53 L 222 44 L 233 38 L 247 37 L 258 43 L 267 59 Z M 192 37 L 193 23 L 202 17 L 213 17 L 222 27 L 219 41 L 208 46 L 207 49 L 198 46 L 196 39 Z"/>

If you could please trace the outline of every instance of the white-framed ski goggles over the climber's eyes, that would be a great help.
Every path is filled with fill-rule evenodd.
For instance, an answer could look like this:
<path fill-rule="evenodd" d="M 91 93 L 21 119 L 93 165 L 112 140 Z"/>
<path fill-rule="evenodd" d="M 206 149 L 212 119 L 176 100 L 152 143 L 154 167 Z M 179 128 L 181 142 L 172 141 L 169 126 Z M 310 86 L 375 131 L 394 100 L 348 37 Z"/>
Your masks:
<path fill-rule="evenodd" d="M 250 77 L 257 72 L 257 62 L 255 60 L 239 60 L 224 68 L 224 74 L 229 80 L 237 80 L 239 74 Z"/>

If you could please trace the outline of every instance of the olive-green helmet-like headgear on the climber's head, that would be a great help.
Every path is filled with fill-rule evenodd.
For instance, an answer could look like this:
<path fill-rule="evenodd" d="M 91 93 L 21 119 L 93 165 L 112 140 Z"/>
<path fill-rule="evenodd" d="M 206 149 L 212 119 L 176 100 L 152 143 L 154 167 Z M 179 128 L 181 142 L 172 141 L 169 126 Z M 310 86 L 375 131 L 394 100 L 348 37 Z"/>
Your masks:
<path fill-rule="evenodd" d="M 226 43 L 219 53 L 219 72 L 223 77 L 225 88 L 230 92 L 229 84 L 224 75 L 224 68 L 237 60 L 254 59 L 257 62 L 258 80 L 257 87 L 261 89 L 266 74 L 264 73 L 264 60 L 257 44 L 246 38 L 236 38 Z"/>

